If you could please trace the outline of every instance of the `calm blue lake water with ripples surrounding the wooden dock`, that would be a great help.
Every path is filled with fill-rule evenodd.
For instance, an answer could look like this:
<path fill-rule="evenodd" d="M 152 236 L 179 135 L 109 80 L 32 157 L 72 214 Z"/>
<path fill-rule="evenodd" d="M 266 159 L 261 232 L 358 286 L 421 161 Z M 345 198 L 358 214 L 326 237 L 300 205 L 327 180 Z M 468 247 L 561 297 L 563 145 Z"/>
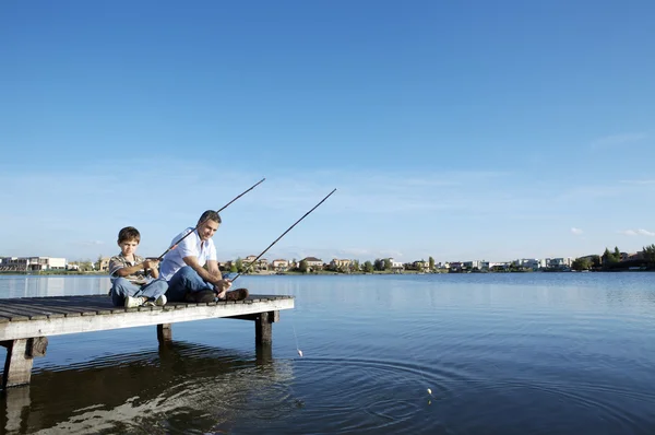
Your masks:
<path fill-rule="evenodd" d="M 175 324 L 162 349 L 154 327 L 51 337 L 0 396 L 0 433 L 655 434 L 655 273 L 239 284 L 296 296 L 272 348 L 227 319 Z M 0 297 L 108 287 L 0 277 Z"/>

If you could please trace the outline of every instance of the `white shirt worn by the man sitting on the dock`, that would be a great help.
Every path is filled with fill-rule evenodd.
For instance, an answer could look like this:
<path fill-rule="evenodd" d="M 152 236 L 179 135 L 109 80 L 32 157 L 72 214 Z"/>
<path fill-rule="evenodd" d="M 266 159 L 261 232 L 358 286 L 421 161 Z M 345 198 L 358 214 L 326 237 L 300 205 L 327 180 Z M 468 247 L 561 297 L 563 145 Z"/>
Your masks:
<path fill-rule="evenodd" d="M 193 234 L 189 234 L 191 231 L 193 231 Z M 174 239 L 170 240 L 169 246 L 172 246 L 172 244 L 184 237 L 187 234 L 189 234 L 189 236 L 180 242 L 177 248 L 168 251 L 168 254 L 164 256 L 159 274 L 166 281 L 170 281 L 178 270 L 187 266 L 183 260 L 184 257 L 195 257 L 201 267 L 209 260 L 216 261 L 216 247 L 214 246 L 214 240 L 210 238 L 203 243 L 198 235 L 198 231 L 193 228 L 187 228 L 175 236 Z"/>

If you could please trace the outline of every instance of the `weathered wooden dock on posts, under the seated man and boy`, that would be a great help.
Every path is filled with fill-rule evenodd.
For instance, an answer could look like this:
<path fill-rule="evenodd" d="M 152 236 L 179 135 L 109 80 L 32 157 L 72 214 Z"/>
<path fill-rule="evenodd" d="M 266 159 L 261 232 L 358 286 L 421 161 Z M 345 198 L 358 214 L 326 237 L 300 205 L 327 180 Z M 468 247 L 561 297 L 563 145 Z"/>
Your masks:
<path fill-rule="evenodd" d="M 33 358 L 46 354 L 50 336 L 156 325 L 162 342 L 172 339 L 175 322 L 231 318 L 254 321 L 255 342 L 270 344 L 279 310 L 291 308 L 294 297 L 281 295 L 139 308 L 115 307 L 106 294 L 0 299 L 0 345 L 7 348 L 2 388 L 29 384 Z"/>

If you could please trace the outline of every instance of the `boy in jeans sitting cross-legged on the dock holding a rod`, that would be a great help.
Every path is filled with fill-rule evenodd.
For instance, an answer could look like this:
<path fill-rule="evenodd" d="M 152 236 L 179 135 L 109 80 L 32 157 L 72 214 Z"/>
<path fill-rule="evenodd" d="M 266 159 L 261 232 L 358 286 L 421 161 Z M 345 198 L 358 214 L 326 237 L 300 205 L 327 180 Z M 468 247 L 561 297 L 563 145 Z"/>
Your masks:
<path fill-rule="evenodd" d="M 117 307 L 166 305 L 168 283 L 159 279 L 159 261 L 134 255 L 140 242 L 141 234 L 133 226 L 126 226 L 118 233 L 120 254 L 109 260 L 111 302 Z"/>

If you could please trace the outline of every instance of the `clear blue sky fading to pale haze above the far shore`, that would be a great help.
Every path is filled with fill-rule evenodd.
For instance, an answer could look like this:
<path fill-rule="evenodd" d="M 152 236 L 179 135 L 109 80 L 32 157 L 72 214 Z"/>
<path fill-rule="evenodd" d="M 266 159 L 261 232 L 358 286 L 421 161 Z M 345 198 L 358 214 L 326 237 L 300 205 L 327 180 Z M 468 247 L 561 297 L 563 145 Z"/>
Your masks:
<path fill-rule="evenodd" d="M 0 4 L 0 256 L 412 261 L 655 243 L 655 3 Z"/>

